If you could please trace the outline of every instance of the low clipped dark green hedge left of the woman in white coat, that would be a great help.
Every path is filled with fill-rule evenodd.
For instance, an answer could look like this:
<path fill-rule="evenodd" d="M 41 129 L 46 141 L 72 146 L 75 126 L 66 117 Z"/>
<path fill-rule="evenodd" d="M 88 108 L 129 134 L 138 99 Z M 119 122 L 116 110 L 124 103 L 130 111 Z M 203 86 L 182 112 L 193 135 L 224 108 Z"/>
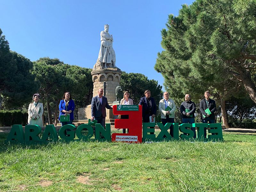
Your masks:
<path fill-rule="evenodd" d="M 11 127 L 14 124 L 28 123 L 28 113 L 21 110 L 0 110 L 0 127 Z"/>

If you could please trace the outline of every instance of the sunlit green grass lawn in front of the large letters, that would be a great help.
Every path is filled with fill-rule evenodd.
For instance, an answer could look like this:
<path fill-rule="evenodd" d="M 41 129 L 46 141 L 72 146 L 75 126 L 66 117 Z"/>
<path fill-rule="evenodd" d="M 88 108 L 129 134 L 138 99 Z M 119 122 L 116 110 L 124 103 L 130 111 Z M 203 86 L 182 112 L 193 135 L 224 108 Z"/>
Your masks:
<path fill-rule="evenodd" d="M 224 142 L 6 144 L 0 191 L 256 191 L 256 135 Z"/>

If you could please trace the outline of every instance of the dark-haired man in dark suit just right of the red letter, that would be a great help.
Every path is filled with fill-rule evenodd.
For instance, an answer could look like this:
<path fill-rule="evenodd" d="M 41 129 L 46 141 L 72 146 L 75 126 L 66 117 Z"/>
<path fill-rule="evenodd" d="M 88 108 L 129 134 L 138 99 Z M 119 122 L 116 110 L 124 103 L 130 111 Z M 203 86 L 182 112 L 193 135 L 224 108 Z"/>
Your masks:
<path fill-rule="evenodd" d="M 156 102 L 154 98 L 150 97 L 150 90 L 144 92 L 145 97 L 140 98 L 139 105 L 142 105 L 142 119 L 143 123 L 149 123 L 149 116 L 152 119 L 156 116 Z M 154 128 L 154 127 L 150 127 Z M 154 134 L 154 133 L 150 133 Z"/>

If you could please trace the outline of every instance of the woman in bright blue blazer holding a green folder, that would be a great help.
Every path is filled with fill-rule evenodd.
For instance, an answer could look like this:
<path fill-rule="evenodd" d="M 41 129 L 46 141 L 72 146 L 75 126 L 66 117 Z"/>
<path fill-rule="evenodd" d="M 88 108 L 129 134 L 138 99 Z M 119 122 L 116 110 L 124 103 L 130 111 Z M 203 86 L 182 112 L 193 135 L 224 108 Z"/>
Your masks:
<path fill-rule="evenodd" d="M 60 101 L 59 109 L 60 109 L 60 115 L 70 115 L 70 121 L 69 122 L 60 122 L 61 126 L 72 124 L 74 120 L 74 110 L 75 110 L 75 102 L 72 100 L 72 97 L 70 95 L 70 92 L 65 92 L 63 95 L 63 100 Z M 60 117 L 59 117 L 60 120 Z"/>

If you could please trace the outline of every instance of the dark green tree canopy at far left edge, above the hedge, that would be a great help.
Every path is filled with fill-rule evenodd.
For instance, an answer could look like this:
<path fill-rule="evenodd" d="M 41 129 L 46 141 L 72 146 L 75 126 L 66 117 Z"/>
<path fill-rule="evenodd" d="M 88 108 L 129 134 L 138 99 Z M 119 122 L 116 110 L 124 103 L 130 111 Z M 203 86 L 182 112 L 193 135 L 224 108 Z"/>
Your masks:
<path fill-rule="evenodd" d="M 29 59 L 10 51 L 0 29 L 0 97 L 4 98 L 5 108 L 21 107 L 37 91 L 32 68 L 33 63 Z"/>

